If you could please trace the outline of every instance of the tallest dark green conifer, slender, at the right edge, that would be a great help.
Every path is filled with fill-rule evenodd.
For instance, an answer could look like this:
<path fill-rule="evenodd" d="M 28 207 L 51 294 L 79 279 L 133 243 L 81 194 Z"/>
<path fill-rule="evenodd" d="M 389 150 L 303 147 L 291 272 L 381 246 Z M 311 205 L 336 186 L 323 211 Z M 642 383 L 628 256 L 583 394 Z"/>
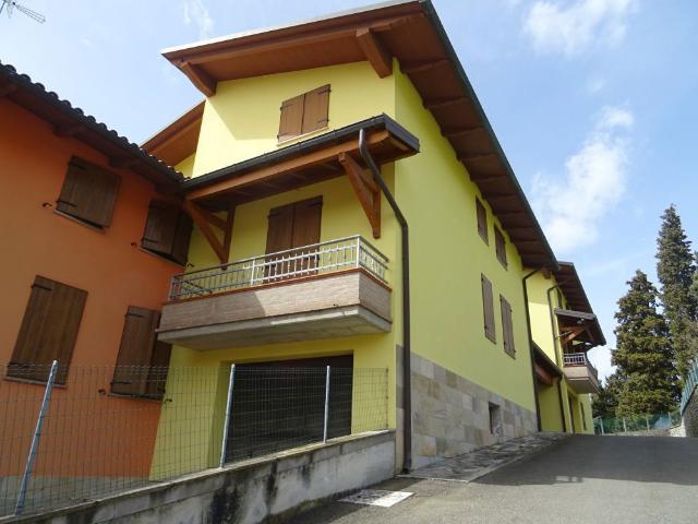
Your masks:
<path fill-rule="evenodd" d="M 676 369 L 682 380 L 689 370 L 696 350 L 690 333 L 698 309 L 697 298 L 691 294 L 695 273 L 690 240 L 672 204 L 662 215 L 662 227 L 657 239 L 657 276 L 661 284 L 662 306 Z"/>

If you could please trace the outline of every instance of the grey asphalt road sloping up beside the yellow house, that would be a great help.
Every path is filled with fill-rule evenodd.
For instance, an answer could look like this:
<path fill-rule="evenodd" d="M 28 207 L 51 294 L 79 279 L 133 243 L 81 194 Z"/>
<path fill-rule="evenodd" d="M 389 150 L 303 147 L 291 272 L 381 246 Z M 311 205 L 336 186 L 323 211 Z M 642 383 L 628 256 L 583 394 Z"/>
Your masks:
<path fill-rule="evenodd" d="M 575 436 L 470 484 L 395 478 L 393 508 L 330 502 L 296 524 L 698 523 L 698 439 Z"/>

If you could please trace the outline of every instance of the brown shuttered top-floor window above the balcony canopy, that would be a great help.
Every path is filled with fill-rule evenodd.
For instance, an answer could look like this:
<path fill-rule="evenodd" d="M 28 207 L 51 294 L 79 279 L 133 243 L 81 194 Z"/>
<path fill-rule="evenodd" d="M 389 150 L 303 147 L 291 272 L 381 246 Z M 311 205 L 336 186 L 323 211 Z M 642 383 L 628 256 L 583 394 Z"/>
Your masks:
<path fill-rule="evenodd" d="M 284 142 L 327 127 L 329 84 L 281 103 L 278 141 Z"/>

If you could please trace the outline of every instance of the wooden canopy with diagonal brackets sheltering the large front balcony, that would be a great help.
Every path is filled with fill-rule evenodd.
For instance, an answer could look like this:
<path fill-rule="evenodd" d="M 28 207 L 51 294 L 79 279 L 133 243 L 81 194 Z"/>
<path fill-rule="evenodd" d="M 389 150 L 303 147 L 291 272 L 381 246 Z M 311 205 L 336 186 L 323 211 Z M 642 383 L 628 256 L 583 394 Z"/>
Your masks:
<path fill-rule="evenodd" d="M 349 178 L 373 236 L 378 238 L 381 191 L 359 153 L 361 130 L 378 166 L 419 152 L 419 140 L 382 115 L 183 182 L 184 209 L 220 263 L 228 262 L 237 205 L 341 176 Z M 227 218 L 217 215 L 225 211 Z M 222 241 L 214 227 L 222 231 Z"/>

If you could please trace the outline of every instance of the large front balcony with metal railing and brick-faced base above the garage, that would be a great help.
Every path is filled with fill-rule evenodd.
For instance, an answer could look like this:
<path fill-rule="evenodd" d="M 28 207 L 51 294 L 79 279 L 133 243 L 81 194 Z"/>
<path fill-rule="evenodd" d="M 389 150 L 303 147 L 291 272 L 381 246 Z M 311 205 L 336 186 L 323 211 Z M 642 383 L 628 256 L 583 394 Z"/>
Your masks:
<path fill-rule="evenodd" d="M 158 338 L 208 350 L 388 332 L 387 271 L 353 236 L 174 275 Z"/>

